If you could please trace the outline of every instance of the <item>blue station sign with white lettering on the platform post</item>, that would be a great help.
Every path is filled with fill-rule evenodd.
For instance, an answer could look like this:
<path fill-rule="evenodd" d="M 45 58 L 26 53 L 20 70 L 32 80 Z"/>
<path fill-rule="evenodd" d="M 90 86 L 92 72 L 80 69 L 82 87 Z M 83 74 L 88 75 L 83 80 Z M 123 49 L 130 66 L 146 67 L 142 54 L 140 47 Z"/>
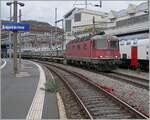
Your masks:
<path fill-rule="evenodd" d="M 5 22 L 5 23 L 2 23 L 1 28 L 2 30 L 9 30 L 9 31 L 29 31 L 29 24 Z"/>

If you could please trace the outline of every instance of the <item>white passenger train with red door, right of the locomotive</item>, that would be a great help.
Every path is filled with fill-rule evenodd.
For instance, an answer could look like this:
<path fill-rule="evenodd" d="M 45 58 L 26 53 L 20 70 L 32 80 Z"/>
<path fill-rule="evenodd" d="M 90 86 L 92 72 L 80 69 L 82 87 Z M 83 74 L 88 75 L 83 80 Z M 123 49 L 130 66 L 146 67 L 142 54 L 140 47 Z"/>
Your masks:
<path fill-rule="evenodd" d="M 123 67 L 149 69 L 149 33 L 138 33 L 119 37 Z"/>

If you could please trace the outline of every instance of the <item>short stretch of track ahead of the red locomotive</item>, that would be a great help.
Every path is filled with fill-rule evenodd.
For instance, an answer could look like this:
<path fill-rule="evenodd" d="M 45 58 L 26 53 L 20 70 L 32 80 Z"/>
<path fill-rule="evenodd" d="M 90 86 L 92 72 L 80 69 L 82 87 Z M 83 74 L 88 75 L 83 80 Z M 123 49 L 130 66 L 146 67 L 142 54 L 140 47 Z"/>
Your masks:
<path fill-rule="evenodd" d="M 117 72 L 100 73 L 100 74 L 149 90 L 149 80 L 143 78 L 138 78 L 138 77 L 117 73 Z"/>

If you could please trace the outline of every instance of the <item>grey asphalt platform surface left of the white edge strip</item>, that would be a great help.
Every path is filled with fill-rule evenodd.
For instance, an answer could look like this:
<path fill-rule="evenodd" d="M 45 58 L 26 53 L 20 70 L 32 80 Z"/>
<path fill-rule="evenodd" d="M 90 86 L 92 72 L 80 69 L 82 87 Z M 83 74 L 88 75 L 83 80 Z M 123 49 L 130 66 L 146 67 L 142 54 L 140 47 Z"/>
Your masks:
<path fill-rule="evenodd" d="M 23 62 L 22 75 L 15 77 L 12 61 L 7 59 L 1 70 L 2 119 L 25 119 L 39 81 L 39 70 L 30 62 Z"/>

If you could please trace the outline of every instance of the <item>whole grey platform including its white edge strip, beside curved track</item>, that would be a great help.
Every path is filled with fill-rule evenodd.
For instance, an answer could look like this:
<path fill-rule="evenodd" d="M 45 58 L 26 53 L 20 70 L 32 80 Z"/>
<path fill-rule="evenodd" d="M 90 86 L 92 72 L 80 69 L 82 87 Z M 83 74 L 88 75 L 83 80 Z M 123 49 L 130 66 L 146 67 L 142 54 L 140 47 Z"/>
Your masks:
<path fill-rule="evenodd" d="M 22 60 L 15 76 L 13 61 L 5 62 L 1 68 L 2 119 L 58 119 L 56 94 L 41 89 L 46 83 L 44 69 L 35 62 Z"/>

